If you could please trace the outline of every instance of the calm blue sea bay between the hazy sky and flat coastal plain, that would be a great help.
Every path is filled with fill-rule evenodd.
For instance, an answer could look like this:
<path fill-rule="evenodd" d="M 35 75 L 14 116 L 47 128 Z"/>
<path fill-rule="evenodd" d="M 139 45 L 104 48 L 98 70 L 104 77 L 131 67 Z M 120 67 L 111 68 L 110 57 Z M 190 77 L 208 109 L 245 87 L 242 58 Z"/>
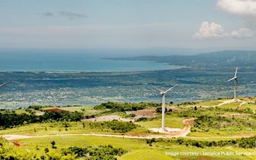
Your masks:
<path fill-rule="evenodd" d="M 102 60 L 108 55 L 88 52 L 1 52 L 0 71 L 127 72 L 168 70 L 179 66 L 148 61 Z"/>

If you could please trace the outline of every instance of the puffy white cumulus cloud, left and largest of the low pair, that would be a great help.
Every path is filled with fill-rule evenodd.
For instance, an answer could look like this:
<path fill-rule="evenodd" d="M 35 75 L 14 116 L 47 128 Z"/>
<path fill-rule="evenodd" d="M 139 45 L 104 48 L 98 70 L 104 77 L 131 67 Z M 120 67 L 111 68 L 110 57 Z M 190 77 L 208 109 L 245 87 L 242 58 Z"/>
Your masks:
<path fill-rule="evenodd" d="M 193 35 L 194 38 L 222 38 L 224 36 L 228 36 L 228 33 L 225 33 L 220 24 L 208 21 L 202 22 L 199 31 Z"/>

